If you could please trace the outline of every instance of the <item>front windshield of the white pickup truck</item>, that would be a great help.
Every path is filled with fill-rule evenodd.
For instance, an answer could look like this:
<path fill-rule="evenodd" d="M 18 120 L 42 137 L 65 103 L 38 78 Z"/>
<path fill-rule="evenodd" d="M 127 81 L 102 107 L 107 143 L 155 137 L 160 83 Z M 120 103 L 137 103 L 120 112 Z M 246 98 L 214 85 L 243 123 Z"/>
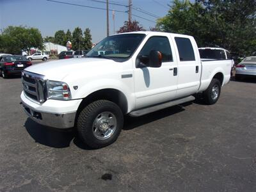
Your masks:
<path fill-rule="evenodd" d="M 86 57 L 129 58 L 137 49 L 145 34 L 124 34 L 104 38 Z"/>

